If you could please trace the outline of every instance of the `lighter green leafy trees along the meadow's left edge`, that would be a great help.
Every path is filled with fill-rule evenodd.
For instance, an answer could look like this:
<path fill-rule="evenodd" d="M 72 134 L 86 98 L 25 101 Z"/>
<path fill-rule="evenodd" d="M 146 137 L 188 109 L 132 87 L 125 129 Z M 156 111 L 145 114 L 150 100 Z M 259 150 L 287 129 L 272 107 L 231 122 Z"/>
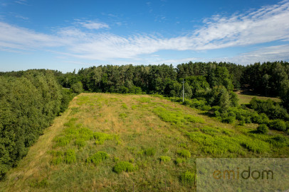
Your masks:
<path fill-rule="evenodd" d="M 50 70 L 0 75 L 0 179 L 28 152 L 74 94 Z"/>

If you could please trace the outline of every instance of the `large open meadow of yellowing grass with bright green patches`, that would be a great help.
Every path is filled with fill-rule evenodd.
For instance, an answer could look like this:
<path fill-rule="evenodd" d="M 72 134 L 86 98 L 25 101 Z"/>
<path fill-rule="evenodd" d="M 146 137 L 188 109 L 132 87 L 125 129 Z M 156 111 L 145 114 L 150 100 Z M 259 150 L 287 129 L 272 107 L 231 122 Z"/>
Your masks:
<path fill-rule="evenodd" d="M 182 183 L 180 176 L 195 171 L 197 157 L 289 157 L 288 143 L 273 147 L 266 142 L 277 132 L 257 135 L 250 132 L 256 125 L 228 125 L 201 113 L 149 96 L 80 94 L 9 171 L 0 191 L 195 191 L 194 184 Z M 85 138 L 80 130 L 92 135 L 83 139 L 83 147 L 75 145 Z M 103 133 L 101 141 L 93 137 Z M 59 138 L 66 136 L 68 145 L 59 146 Z M 76 156 L 71 164 L 64 162 L 68 149 Z M 181 149 L 191 157 L 180 157 Z M 51 151 L 62 154 L 60 164 L 52 163 L 56 157 Z M 109 158 L 97 166 L 85 162 L 99 151 Z M 160 156 L 172 160 L 160 162 Z M 185 162 L 176 164 L 177 158 Z M 120 161 L 138 169 L 116 174 L 112 169 Z"/>

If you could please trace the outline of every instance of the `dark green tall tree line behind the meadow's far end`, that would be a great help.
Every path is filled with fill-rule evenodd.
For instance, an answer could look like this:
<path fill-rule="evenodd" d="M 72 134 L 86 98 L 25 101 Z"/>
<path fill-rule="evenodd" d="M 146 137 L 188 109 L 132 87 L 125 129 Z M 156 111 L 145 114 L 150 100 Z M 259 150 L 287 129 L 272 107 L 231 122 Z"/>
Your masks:
<path fill-rule="evenodd" d="M 231 93 L 241 86 L 256 94 L 279 96 L 283 106 L 289 103 L 288 62 L 264 62 L 243 66 L 229 62 L 188 62 L 171 65 L 105 65 L 80 69 L 77 73 L 56 72 L 63 87 L 92 92 L 122 94 L 162 94 L 182 96 L 182 80 L 186 98 L 208 96 L 221 89 Z M 216 101 L 210 101 L 216 104 Z"/>

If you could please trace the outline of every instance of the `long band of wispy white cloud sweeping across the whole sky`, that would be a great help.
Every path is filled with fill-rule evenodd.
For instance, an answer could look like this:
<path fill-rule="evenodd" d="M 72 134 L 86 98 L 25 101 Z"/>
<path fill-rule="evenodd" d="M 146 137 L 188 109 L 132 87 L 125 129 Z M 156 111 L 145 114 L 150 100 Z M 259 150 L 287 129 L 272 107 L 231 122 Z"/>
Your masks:
<path fill-rule="evenodd" d="M 289 1 L 232 16 L 212 16 L 204 20 L 204 26 L 177 38 L 140 34 L 123 37 L 98 31 L 101 28 L 110 28 L 106 23 L 85 20 L 75 20 L 74 26 L 61 28 L 53 35 L 0 22 L 0 31 L 3 32 L 0 33 L 0 48 L 33 50 L 37 47 L 62 47 L 63 55 L 80 59 L 134 59 L 160 50 L 214 50 L 278 40 L 288 41 L 288 21 Z M 274 54 L 277 58 L 278 52 L 272 52 L 272 55 Z M 279 56 L 284 55 L 283 52 L 283 56 Z M 252 58 L 253 55 L 241 55 L 234 60 L 238 63 L 237 60 L 241 62 L 243 57 Z"/>

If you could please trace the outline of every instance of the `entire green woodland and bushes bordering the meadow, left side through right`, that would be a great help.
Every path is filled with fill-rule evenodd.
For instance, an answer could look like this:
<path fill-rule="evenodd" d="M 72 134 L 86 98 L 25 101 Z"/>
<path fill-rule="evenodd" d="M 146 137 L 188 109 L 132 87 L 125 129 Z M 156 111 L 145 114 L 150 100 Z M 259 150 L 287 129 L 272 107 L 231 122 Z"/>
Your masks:
<path fill-rule="evenodd" d="M 184 81 L 184 97 L 182 88 Z M 239 106 L 241 88 L 277 96 L 281 103 L 253 98 Z M 83 91 L 159 94 L 199 108 L 226 123 L 258 123 L 263 130 L 289 129 L 289 63 L 247 66 L 226 62 L 171 65 L 105 65 L 63 74 L 53 70 L 0 73 L 0 175 L 27 153 L 43 129 Z"/>

